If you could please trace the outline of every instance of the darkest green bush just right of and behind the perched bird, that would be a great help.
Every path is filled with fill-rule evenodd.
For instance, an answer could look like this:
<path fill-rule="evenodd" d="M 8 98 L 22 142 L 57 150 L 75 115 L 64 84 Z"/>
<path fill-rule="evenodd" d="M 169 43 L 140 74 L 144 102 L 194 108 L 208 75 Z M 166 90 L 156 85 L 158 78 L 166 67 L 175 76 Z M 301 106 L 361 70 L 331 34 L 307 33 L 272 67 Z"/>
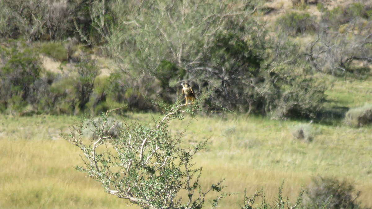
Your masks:
<path fill-rule="evenodd" d="M 262 37 L 252 35 L 247 41 L 241 35 L 234 31 L 217 35 L 208 49 L 205 66 L 192 68 L 187 77 L 195 77 L 204 91 L 212 91 L 213 102 L 228 109 L 266 112 L 266 102 L 270 101 L 257 91 L 268 80 L 261 68 L 266 44 Z"/>

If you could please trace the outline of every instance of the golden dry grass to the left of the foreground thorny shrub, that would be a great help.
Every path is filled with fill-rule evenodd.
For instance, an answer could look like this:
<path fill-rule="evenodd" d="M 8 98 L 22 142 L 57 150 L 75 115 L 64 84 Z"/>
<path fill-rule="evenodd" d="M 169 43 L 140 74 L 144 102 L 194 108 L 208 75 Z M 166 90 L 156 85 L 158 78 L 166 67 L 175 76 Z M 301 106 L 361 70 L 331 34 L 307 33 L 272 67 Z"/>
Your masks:
<path fill-rule="evenodd" d="M 118 208 L 125 205 L 78 173 L 78 150 L 58 139 L 78 118 L 1 118 L 0 208 Z"/>

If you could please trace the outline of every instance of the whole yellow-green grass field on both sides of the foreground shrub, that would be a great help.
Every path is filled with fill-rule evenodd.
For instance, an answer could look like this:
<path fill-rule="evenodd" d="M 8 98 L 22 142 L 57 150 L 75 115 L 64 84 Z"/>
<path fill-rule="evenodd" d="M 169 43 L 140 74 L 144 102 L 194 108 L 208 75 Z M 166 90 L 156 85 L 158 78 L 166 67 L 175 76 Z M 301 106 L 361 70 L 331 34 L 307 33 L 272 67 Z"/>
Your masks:
<path fill-rule="evenodd" d="M 371 103 L 368 85 L 358 82 L 337 81 L 327 94 L 339 105 Z M 128 113 L 126 118 L 150 122 L 151 114 Z M 1 116 L 0 208 L 138 208 L 106 194 L 98 182 L 74 169 L 81 165 L 80 152 L 59 133 L 68 132 L 78 119 Z M 174 120 L 169 127 L 177 133 L 183 129 L 182 122 Z M 240 208 L 244 189 L 251 195 L 263 188 L 271 202 L 282 181 L 283 196 L 294 202 L 316 176 L 349 181 L 362 192 L 357 199 L 361 206 L 372 207 L 372 127 L 313 123 L 317 134 L 314 141 L 305 143 L 292 136 L 291 128 L 300 123 L 308 122 L 241 114 L 198 116 L 187 129 L 183 145 L 210 138 L 194 162 L 203 167 L 202 185 L 225 179 L 224 191 L 237 193 L 222 199 L 221 208 Z"/>

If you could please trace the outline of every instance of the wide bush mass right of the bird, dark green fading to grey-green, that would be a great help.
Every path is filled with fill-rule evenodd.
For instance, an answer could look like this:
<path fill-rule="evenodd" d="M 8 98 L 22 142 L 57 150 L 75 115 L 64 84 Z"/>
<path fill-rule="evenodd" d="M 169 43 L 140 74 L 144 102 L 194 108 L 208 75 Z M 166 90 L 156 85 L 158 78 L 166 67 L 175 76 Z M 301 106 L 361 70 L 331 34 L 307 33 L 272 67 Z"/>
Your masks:
<path fill-rule="evenodd" d="M 301 65 L 296 46 L 273 45 L 264 33 L 257 35 L 220 34 L 205 58 L 208 67 L 199 67 L 203 73 L 189 70 L 188 77 L 198 78 L 195 81 L 211 91 L 211 100 L 228 109 L 278 118 L 314 117 L 324 102 L 325 88 L 315 82 L 310 68 L 275 66 L 282 58 L 271 60 L 268 53 L 278 47 L 276 53 L 286 54 L 287 61 L 293 56 L 291 62 Z"/>

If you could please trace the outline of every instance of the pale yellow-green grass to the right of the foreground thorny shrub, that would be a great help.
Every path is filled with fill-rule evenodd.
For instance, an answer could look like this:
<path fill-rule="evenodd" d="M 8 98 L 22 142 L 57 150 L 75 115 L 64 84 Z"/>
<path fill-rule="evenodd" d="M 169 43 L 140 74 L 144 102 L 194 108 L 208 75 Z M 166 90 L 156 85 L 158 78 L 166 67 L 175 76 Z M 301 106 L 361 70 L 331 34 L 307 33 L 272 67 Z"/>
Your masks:
<path fill-rule="evenodd" d="M 194 123 L 211 134 L 208 149 L 195 159 L 203 166 L 205 181 L 213 183 L 226 178 L 228 190 L 240 193 L 222 202 L 222 208 L 227 205 L 238 208 L 244 189 L 253 194 L 263 187 L 273 200 L 283 180 L 283 194 L 295 200 L 312 176 L 351 181 L 362 191 L 359 198 L 362 206 L 372 206 L 368 198 L 372 190 L 371 129 L 314 124 L 321 132 L 314 141 L 302 143 L 293 140 L 288 128 L 296 122 L 241 116 L 228 120 L 200 118 Z M 201 124 L 205 124 L 203 128 Z M 195 129 L 191 126 L 189 134 Z"/>

